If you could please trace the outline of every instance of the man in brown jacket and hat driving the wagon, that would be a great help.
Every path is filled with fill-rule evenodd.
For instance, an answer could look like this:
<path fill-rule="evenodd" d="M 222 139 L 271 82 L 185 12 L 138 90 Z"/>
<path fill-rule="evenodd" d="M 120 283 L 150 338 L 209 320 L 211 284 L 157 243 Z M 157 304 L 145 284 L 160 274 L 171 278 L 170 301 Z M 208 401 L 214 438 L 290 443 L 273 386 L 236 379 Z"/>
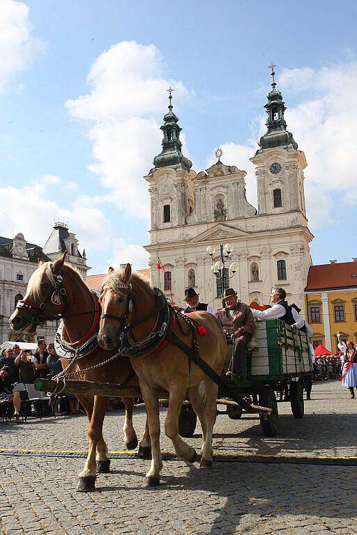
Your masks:
<path fill-rule="evenodd" d="M 225 308 L 218 311 L 217 318 L 223 330 L 226 332 L 229 329 L 234 330 L 235 339 L 235 366 L 233 370 L 236 375 L 241 375 L 242 364 L 245 359 L 245 347 L 252 339 L 252 334 L 255 332 L 255 321 L 252 311 L 247 304 L 238 300 L 237 293 L 233 288 L 227 288 L 223 293 L 222 300 L 225 302 Z M 227 331 L 226 331 L 227 329 Z M 231 364 L 230 366 L 231 367 Z M 231 375 L 231 369 L 227 371 L 227 375 Z"/>

